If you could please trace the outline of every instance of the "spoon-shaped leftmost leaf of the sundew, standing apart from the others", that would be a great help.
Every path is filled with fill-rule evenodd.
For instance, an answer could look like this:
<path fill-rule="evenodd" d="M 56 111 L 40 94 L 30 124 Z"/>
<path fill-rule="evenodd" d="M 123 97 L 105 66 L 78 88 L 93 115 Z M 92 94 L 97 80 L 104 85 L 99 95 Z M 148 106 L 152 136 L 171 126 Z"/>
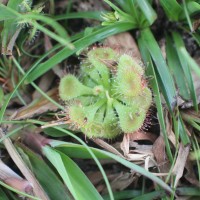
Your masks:
<path fill-rule="evenodd" d="M 89 94 L 93 94 L 92 88 L 83 85 L 73 75 L 66 75 L 60 81 L 59 95 L 62 100 L 70 100 L 78 96 Z"/>

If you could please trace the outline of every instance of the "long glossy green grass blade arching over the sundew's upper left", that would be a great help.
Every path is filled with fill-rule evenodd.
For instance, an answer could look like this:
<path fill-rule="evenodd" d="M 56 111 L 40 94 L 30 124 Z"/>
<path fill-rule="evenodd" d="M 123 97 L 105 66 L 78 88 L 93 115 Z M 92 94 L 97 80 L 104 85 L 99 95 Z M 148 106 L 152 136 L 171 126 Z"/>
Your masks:
<path fill-rule="evenodd" d="M 94 42 L 101 41 L 110 35 L 114 35 L 120 32 L 124 32 L 133 29 L 134 25 L 131 23 L 116 23 L 110 26 L 100 28 L 97 31 L 75 41 L 72 43 L 74 49 L 64 48 L 48 59 L 46 62 L 37 66 L 35 70 L 27 77 L 27 81 L 30 83 L 42 76 L 45 72 L 50 70 L 52 67 L 56 66 L 58 63 L 62 62 L 64 59 L 68 58 L 72 54 L 86 48 L 87 46 L 93 44 Z"/>

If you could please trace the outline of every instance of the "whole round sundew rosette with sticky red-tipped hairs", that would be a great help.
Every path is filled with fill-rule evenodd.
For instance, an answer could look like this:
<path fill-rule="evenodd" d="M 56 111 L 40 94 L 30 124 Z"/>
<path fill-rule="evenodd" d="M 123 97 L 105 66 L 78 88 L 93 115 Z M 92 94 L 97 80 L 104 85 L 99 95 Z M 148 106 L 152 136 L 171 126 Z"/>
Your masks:
<path fill-rule="evenodd" d="M 71 127 L 107 139 L 141 129 L 152 103 L 143 67 L 109 47 L 90 50 L 80 78 L 63 77 L 59 94 L 68 105 Z"/>

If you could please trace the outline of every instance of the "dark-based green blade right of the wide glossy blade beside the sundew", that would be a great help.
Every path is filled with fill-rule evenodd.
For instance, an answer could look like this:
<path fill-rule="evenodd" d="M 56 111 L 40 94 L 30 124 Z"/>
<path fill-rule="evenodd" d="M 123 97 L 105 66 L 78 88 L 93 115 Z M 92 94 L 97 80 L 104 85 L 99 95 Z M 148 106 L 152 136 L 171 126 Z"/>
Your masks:
<path fill-rule="evenodd" d="M 173 46 L 172 39 L 167 36 L 166 38 L 166 55 L 167 63 L 171 73 L 176 81 L 179 94 L 186 100 L 190 99 L 187 81 L 178 58 L 178 54 Z"/>

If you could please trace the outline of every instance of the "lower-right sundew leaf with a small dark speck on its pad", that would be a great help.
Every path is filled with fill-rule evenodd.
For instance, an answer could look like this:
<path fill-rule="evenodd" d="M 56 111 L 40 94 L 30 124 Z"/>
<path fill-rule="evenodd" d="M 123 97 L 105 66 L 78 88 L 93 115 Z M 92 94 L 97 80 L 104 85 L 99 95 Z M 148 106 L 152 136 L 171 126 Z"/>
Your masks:
<path fill-rule="evenodd" d="M 118 101 L 114 101 L 114 108 L 117 111 L 119 118 L 119 126 L 125 133 L 132 133 L 139 130 L 145 120 L 146 112 L 134 107 L 122 105 Z"/>

